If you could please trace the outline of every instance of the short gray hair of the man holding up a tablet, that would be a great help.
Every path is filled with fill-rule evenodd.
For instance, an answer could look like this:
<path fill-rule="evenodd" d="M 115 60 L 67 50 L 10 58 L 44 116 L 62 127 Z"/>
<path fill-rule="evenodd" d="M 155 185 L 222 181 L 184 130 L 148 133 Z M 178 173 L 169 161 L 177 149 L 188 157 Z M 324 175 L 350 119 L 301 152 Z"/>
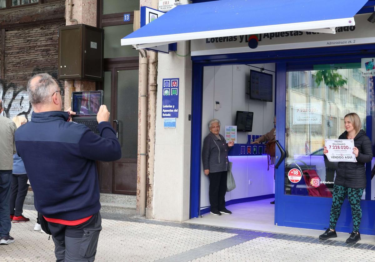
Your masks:
<path fill-rule="evenodd" d="M 31 85 L 31 81 L 36 77 L 39 77 L 39 80 Z M 47 73 L 35 74 L 28 80 L 27 93 L 32 105 L 49 103 L 54 91 L 56 91 L 56 82 Z"/>

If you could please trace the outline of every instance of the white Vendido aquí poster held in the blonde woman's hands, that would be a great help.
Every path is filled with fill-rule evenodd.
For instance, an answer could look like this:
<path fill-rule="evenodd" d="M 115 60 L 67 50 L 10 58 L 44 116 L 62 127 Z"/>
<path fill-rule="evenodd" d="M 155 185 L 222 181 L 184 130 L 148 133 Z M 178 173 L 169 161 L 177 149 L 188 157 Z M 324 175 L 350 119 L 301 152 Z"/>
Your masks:
<path fill-rule="evenodd" d="M 327 158 L 331 162 L 357 162 L 353 139 L 326 139 Z"/>

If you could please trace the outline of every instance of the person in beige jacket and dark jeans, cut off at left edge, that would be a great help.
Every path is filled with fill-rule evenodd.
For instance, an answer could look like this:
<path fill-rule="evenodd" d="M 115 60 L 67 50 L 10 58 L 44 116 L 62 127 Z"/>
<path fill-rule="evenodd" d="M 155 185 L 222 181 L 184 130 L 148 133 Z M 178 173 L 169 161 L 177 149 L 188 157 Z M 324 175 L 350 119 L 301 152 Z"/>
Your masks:
<path fill-rule="evenodd" d="M 3 102 L 0 100 L 0 244 L 14 242 L 9 235 L 12 223 L 9 219 L 10 181 L 12 181 L 13 155 L 16 153 L 14 132 L 16 124 L 2 116 Z"/>

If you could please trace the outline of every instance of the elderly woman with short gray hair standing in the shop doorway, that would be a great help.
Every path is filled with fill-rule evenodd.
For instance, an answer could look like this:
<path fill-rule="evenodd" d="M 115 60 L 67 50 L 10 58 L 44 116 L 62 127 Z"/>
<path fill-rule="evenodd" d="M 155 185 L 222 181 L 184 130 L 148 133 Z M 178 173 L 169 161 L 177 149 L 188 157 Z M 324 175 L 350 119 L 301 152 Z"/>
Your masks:
<path fill-rule="evenodd" d="M 210 213 L 215 216 L 231 214 L 232 212 L 225 208 L 225 193 L 228 151 L 234 142 L 226 143 L 225 138 L 219 134 L 220 121 L 218 119 L 211 119 L 208 128 L 211 132 L 203 141 L 202 162 L 204 174 L 210 179 Z"/>

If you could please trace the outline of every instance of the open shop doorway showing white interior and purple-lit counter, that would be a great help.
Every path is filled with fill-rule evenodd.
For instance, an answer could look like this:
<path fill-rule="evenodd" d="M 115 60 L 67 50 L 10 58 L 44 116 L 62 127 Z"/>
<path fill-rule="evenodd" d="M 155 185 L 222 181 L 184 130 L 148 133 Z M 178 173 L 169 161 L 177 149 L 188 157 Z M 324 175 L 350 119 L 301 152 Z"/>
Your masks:
<path fill-rule="evenodd" d="M 233 162 L 236 181 L 236 189 L 225 195 L 226 208 L 232 214 L 210 214 L 210 183 L 202 167 L 200 222 L 252 229 L 257 229 L 257 225 L 272 227 L 275 223 L 275 205 L 270 203 L 275 200 L 274 159 L 269 165 L 264 152 L 266 139 L 261 144 L 251 143 L 275 127 L 275 63 L 204 67 L 202 92 L 202 143 L 210 132 L 211 119 L 219 119 L 220 134 L 224 137 L 226 126 L 242 130 L 237 130 L 236 145 L 228 157 Z M 240 123 L 238 114 L 251 118 L 252 123 L 240 127 L 246 124 Z"/>

